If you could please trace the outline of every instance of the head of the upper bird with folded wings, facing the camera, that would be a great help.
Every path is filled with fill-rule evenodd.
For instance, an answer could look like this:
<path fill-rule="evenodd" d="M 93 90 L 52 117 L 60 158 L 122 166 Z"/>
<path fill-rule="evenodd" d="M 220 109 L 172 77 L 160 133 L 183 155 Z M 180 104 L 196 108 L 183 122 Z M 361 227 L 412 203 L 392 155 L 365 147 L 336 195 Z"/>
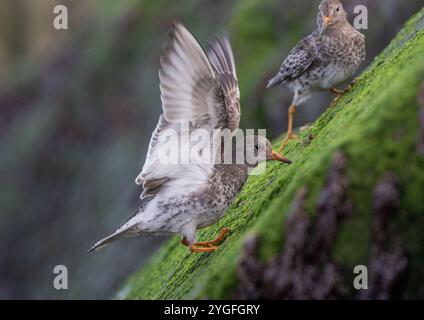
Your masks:
<path fill-rule="evenodd" d="M 323 0 L 318 8 L 317 24 L 320 38 L 339 23 L 347 21 L 347 13 L 339 0 Z"/>

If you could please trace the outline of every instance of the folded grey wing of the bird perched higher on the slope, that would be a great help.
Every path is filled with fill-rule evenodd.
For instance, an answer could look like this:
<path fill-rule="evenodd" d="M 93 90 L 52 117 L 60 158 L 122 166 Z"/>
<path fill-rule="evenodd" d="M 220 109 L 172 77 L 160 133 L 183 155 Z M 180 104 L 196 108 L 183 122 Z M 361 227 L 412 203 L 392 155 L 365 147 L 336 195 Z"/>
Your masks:
<path fill-rule="evenodd" d="M 315 34 L 303 38 L 281 64 L 278 73 L 269 80 L 267 88 L 293 80 L 309 69 L 317 58 L 317 37 Z"/>

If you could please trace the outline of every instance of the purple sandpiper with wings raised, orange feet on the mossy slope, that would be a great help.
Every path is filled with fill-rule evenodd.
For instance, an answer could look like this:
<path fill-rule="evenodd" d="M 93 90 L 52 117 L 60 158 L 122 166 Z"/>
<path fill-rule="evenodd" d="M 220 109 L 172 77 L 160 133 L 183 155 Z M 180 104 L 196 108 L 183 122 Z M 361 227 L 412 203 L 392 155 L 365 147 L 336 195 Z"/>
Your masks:
<path fill-rule="evenodd" d="M 240 121 L 236 68 L 226 36 L 216 37 L 205 53 L 185 27 L 174 23 L 164 51 L 159 71 L 163 114 L 136 178 L 136 183 L 143 186 L 141 206 L 90 252 L 120 238 L 170 233 L 181 234 L 182 244 L 191 252 L 214 252 L 229 229 L 222 229 L 216 239 L 204 242 L 197 242 L 196 230 L 222 218 L 245 183 L 249 168 L 266 160 L 290 163 L 272 151 L 266 138 L 255 136 L 245 137 L 245 148 L 258 154 L 256 163 L 163 164 L 160 149 L 167 129 L 182 135 L 180 123 L 190 121 L 190 130 L 234 131 Z"/>

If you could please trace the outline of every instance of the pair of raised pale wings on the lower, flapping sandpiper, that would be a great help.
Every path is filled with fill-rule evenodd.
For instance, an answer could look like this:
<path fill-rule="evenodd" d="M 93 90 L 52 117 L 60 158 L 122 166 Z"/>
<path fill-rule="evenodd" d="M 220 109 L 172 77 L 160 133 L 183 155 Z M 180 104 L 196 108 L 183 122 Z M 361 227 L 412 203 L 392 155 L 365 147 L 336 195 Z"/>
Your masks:
<path fill-rule="evenodd" d="M 159 190 L 200 190 L 212 168 L 207 164 L 163 164 L 161 156 L 168 129 L 181 137 L 181 124 L 196 128 L 235 130 L 240 121 L 239 89 L 234 58 L 226 37 L 210 44 L 205 54 L 193 35 L 174 23 L 165 46 L 159 71 L 163 114 L 152 134 L 142 172 L 136 178 L 143 185 L 141 197 L 155 196 Z M 184 146 L 180 146 L 184 147 Z M 182 148 L 180 148 L 181 150 Z"/>

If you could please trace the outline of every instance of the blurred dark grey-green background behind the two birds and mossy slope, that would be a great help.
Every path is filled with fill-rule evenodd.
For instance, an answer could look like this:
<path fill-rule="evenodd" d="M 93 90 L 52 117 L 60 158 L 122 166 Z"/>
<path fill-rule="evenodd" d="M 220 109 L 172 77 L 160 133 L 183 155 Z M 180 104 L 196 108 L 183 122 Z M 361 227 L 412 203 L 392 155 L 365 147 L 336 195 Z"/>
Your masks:
<path fill-rule="evenodd" d="M 366 5 L 366 68 L 422 0 Z M 68 8 L 69 29 L 53 27 Z M 87 249 L 137 207 L 134 184 L 161 112 L 159 58 L 177 19 L 201 43 L 224 29 L 238 68 L 243 128 L 286 126 L 291 94 L 265 91 L 283 57 L 315 28 L 319 0 L 0 0 L 0 298 L 110 298 L 163 239 Z M 296 114 L 312 122 L 331 94 Z M 55 290 L 65 265 L 69 289 Z"/>

